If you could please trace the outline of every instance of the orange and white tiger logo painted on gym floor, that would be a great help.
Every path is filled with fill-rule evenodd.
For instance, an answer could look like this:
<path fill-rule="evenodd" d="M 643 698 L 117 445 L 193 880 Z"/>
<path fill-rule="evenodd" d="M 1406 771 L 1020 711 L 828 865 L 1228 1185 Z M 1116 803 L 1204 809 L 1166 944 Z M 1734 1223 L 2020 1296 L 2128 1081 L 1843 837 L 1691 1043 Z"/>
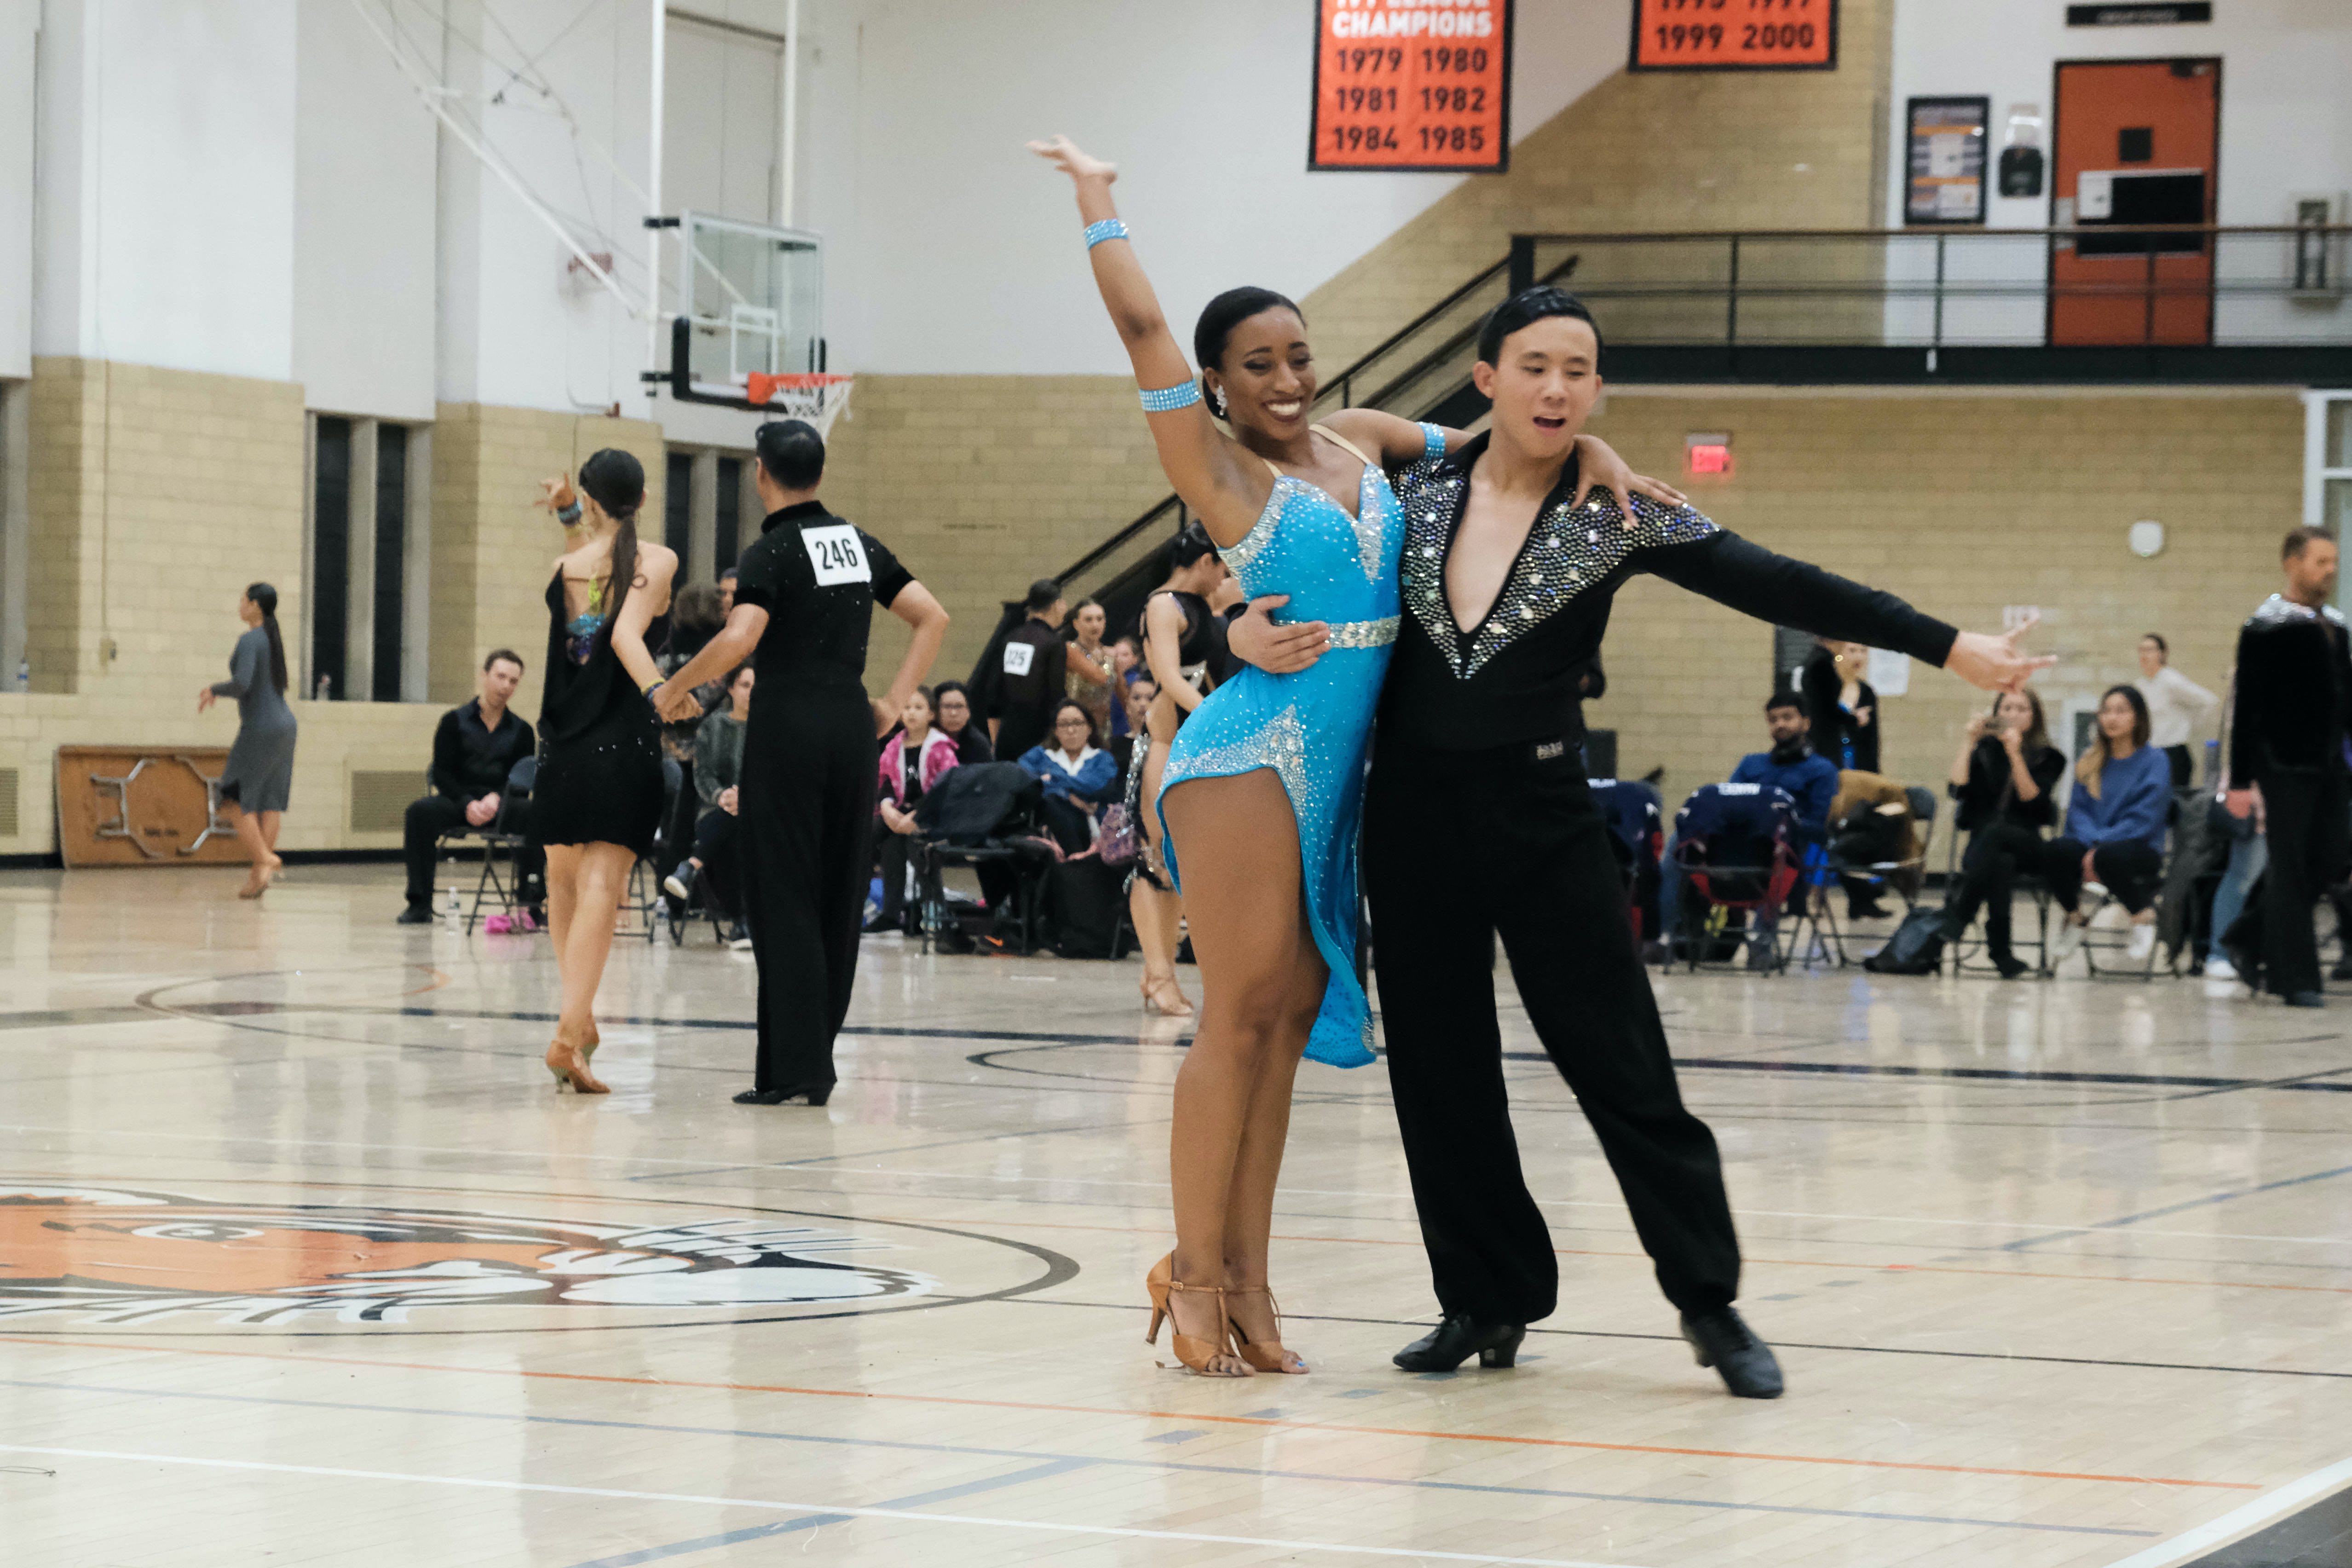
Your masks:
<path fill-rule="evenodd" d="M 470 1328 L 532 1328 L 588 1309 L 727 1321 L 938 1286 L 873 1262 L 877 1251 L 898 1246 L 760 1215 L 612 1225 L 0 1180 L 0 1324 L 381 1326 L 456 1309 L 477 1309 L 466 1314 Z"/>

